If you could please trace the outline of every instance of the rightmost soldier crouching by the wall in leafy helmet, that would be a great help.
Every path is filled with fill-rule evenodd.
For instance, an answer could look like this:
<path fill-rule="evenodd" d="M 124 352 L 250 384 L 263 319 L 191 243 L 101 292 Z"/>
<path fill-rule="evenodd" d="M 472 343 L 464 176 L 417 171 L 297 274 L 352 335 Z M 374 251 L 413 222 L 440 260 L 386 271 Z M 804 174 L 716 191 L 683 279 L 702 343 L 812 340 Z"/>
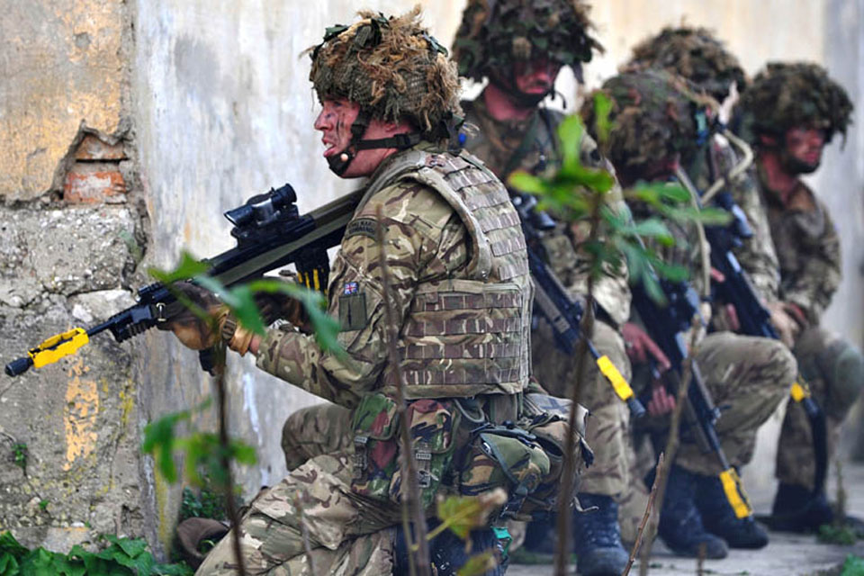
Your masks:
<path fill-rule="evenodd" d="M 864 358 L 819 326 L 841 280 L 840 238 L 826 206 L 800 176 L 815 172 L 834 134 L 845 138 L 852 104 L 823 67 L 770 63 L 743 95 L 741 112 L 743 133 L 757 151 L 761 206 L 779 257 L 771 320 L 826 414 L 833 446 L 864 385 Z M 801 531 L 832 521 L 824 491 L 815 486 L 814 446 L 797 404 L 789 404 L 783 421 L 776 474 L 773 527 Z"/>

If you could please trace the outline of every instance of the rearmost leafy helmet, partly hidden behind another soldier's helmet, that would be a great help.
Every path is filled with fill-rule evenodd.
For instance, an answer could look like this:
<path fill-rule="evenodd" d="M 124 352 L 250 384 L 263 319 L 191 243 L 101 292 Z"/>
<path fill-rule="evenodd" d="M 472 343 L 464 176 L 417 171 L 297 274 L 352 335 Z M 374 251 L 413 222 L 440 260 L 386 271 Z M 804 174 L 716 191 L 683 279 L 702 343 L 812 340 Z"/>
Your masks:
<path fill-rule="evenodd" d="M 733 82 L 741 93 L 747 85 L 738 58 L 707 28 L 664 28 L 653 38 L 643 40 L 633 49 L 624 69 L 645 67 L 662 68 L 687 78 L 718 103 L 725 100 Z"/>

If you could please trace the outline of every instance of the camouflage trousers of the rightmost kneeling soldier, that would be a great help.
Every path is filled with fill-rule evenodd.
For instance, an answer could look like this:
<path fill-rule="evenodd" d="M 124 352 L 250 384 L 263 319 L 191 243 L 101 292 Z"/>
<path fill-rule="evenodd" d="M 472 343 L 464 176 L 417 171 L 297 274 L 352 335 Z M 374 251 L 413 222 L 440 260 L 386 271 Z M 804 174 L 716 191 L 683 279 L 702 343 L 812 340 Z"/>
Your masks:
<path fill-rule="evenodd" d="M 801 374 L 815 401 L 824 410 L 828 462 L 837 445 L 840 425 L 858 399 L 862 385 L 860 352 L 831 332 L 806 329 L 793 350 Z M 815 484 L 813 435 L 804 408 L 790 401 L 777 448 L 776 474 L 780 482 L 813 490 Z"/>

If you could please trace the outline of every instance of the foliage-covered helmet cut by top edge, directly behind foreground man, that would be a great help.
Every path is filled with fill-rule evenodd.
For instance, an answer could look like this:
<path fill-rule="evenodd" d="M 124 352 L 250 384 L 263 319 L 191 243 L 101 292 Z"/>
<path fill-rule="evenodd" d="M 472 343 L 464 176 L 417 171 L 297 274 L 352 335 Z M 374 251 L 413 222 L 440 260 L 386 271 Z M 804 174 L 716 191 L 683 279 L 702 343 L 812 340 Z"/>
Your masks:
<path fill-rule="evenodd" d="M 580 0 L 470 0 L 453 44 L 459 74 L 479 82 L 492 70 L 509 74 L 517 60 L 589 62 L 603 47 L 588 13 Z"/>

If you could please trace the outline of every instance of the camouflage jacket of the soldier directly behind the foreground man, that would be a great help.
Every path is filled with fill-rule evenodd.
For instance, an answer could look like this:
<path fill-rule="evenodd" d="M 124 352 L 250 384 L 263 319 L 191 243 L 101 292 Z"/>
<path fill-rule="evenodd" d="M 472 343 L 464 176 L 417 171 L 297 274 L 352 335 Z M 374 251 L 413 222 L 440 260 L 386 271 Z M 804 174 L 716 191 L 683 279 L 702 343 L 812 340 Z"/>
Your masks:
<path fill-rule="evenodd" d="M 473 101 L 463 101 L 462 107 L 465 120 L 480 130 L 467 139 L 465 148 L 481 158 L 502 182 L 506 183 L 510 173 L 517 169 L 540 174 L 560 165 L 555 130 L 563 120 L 561 112 L 538 108 L 523 121 L 498 121 L 492 118 L 482 96 Z M 523 144 L 523 141 L 526 143 Z M 581 161 L 585 166 L 602 166 L 615 174 L 615 169 L 600 156 L 597 144 L 587 133 L 581 140 Z M 611 198 L 613 204 L 626 209 L 617 184 Z M 588 260 L 581 256 L 581 242 L 588 238 L 587 224 L 560 224 L 547 234 L 544 241 L 547 264 L 574 297 L 581 297 L 588 292 Z M 595 298 L 620 326 L 630 315 L 627 271 L 622 266 L 608 272 L 609 275 L 604 275 L 594 285 Z"/>

